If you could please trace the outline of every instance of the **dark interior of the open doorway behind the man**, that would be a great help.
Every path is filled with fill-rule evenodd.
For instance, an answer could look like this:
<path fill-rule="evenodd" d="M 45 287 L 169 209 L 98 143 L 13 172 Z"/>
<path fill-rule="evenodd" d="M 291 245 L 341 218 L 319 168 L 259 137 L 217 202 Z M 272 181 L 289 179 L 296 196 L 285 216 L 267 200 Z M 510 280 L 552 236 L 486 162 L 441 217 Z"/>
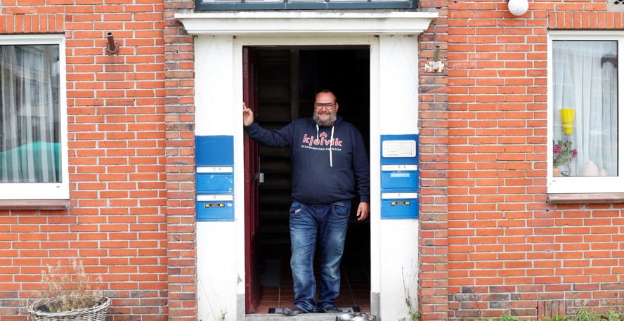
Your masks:
<path fill-rule="evenodd" d="M 256 122 L 280 129 L 294 119 L 311 117 L 314 96 L 331 89 L 340 104 L 339 114 L 363 134 L 370 155 L 370 50 L 368 46 L 249 47 L 254 57 Z M 253 89 L 252 89 L 253 90 Z M 260 287 L 246 296 L 259 298 L 256 313 L 292 306 L 290 271 L 290 155 L 288 148 L 259 147 L 258 230 L 251 252 L 257 262 Z M 357 306 L 370 311 L 370 218 L 356 220 L 358 199 L 353 199 L 349 232 L 341 263 L 338 307 Z M 318 252 L 318 251 L 317 251 Z M 249 253 L 249 252 L 248 252 Z M 315 264 L 318 272 L 318 260 Z M 249 273 L 250 271 L 246 271 Z M 249 311 L 248 311 L 249 312 Z"/>

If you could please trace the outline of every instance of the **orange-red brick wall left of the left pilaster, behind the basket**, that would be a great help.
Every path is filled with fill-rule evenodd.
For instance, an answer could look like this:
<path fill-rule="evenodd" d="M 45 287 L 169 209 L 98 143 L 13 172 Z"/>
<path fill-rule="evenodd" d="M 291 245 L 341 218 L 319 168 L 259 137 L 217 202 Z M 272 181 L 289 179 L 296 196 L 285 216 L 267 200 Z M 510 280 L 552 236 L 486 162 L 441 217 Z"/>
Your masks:
<path fill-rule="evenodd" d="M 71 198 L 66 211 L 0 210 L 0 319 L 26 320 L 41 270 L 79 257 L 103 278 L 109 320 L 167 320 L 164 4 L 0 8 L 0 34 L 65 34 Z M 117 55 L 105 53 L 107 32 Z"/>

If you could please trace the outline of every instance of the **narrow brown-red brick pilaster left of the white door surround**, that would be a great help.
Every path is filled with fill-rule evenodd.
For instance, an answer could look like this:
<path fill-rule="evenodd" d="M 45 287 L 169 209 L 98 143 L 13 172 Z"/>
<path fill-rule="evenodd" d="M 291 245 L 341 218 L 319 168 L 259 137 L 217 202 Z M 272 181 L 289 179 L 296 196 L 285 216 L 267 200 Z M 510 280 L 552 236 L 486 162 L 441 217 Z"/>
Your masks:
<path fill-rule="evenodd" d="M 165 1 L 165 100 L 167 130 L 167 240 L 169 320 L 197 320 L 195 221 L 195 100 L 193 36 L 174 19 L 194 1 Z"/>

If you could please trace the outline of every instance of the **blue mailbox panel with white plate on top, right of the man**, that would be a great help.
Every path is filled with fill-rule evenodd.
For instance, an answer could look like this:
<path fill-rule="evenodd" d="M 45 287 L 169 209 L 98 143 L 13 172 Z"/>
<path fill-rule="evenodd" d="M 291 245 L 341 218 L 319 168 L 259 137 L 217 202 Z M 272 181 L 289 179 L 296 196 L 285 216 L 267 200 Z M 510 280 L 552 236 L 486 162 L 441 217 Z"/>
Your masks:
<path fill-rule="evenodd" d="M 418 135 L 382 135 L 382 219 L 418 218 Z"/>

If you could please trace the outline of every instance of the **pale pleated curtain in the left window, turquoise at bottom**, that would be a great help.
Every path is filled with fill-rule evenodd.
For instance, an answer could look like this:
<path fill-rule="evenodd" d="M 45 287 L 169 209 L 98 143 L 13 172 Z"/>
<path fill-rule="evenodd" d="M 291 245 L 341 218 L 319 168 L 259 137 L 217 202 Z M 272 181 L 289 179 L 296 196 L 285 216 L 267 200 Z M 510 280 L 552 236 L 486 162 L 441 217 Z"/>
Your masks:
<path fill-rule="evenodd" d="M 0 183 L 60 182 L 58 46 L 0 46 Z"/>

